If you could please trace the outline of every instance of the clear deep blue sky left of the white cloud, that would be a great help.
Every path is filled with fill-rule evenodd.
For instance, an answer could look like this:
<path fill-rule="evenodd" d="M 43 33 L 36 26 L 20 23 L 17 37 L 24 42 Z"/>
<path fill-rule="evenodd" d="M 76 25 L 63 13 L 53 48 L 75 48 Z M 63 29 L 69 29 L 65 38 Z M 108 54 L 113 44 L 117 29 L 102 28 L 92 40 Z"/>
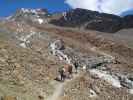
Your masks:
<path fill-rule="evenodd" d="M 17 8 L 47 8 L 55 12 L 69 9 L 69 6 L 64 0 L 0 0 L 0 16 L 9 16 Z"/>

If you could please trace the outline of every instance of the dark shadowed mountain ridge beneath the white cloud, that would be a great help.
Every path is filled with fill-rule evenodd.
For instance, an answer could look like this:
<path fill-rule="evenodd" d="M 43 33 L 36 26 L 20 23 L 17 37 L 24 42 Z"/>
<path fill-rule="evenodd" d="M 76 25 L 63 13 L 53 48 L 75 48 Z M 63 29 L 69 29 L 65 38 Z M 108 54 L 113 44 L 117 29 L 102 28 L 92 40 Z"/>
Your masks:
<path fill-rule="evenodd" d="M 123 28 L 133 27 L 131 19 L 132 16 L 122 18 L 116 15 L 77 8 L 64 13 L 63 17 L 59 20 L 52 20 L 51 23 L 58 26 L 78 27 L 113 33 Z"/>

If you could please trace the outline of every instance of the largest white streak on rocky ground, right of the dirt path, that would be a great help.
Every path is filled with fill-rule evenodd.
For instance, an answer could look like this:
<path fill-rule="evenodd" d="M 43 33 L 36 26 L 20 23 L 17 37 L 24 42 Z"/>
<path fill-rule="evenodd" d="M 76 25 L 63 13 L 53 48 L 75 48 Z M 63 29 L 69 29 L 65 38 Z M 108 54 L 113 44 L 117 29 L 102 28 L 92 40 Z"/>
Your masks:
<path fill-rule="evenodd" d="M 97 70 L 97 69 L 92 69 L 92 70 L 90 70 L 90 73 L 91 74 L 95 74 L 99 78 L 104 79 L 105 81 L 107 81 L 108 83 L 110 83 L 114 87 L 117 87 L 117 88 L 122 87 L 118 77 L 112 76 L 112 75 L 108 74 L 105 71 L 101 71 L 101 70 Z"/>

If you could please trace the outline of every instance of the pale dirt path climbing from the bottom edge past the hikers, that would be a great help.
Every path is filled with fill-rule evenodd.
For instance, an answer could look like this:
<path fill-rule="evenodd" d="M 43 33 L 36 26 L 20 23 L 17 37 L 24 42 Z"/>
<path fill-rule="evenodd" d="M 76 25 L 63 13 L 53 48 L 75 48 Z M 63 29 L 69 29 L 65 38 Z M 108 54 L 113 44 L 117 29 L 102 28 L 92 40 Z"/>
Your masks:
<path fill-rule="evenodd" d="M 62 95 L 63 91 L 64 91 L 64 87 L 71 82 L 72 80 L 76 79 L 77 77 L 80 76 L 81 72 L 78 72 L 77 74 L 73 74 L 72 79 L 66 79 L 63 83 L 55 83 L 55 90 L 53 92 L 53 95 L 51 95 L 50 97 L 48 97 L 48 99 L 46 100 L 60 100 L 60 96 Z"/>

